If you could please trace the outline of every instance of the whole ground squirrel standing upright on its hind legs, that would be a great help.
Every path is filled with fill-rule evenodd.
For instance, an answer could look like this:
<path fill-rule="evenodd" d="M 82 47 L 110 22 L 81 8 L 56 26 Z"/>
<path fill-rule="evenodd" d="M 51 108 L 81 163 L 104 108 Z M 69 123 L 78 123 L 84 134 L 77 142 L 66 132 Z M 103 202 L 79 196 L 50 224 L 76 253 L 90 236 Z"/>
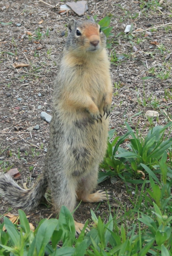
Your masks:
<path fill-rule="evenodd" d="M 106 151 L 112 101 L 106 37 L 93 20 L 72 19 L 68 29 L 54 84 L 44 172 L 29 190 L 0 175 L 0 194 L 17 208 L 37 207 L 47 187 L 56 213 L 62 205 L 73 211 L 76 199 L 94 203 L 110 197 L 101 190 L 91 194 Z M 75 227 L 79 231 L 83 224 L 75 222 Z"/>

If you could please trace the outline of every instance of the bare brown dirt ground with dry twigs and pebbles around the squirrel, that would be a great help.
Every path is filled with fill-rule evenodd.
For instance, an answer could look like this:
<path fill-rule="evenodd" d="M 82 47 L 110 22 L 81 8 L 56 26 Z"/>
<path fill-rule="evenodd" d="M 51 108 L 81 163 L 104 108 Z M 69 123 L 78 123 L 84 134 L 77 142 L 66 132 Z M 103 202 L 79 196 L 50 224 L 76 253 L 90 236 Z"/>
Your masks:
<path fill-rule="evenodd" d="M 17 182 L 23 186 L 27 181 L 28 187 L 44 169 L 50 124 L 40 118 L 40 113 L 52 113 L 53 82 L 70 18 L 86 19 L 87 15 L 97 15 L 99 21 L 112 15 L 110 26 L 113 26 L 114 36 L 110 38 L 112 45 L 108 51 L 114 95 L 110 128 L 116 128 L 118 136 L 127 131 L 124 121 L 133 129 L 137 126 L 144 135 L 150 128 L 144 116 L 148 109 L 160 113 L 153 125 L 166 124 L 170 120 L 168 113 L 172 113 L 172 23 L 166 25 L 172 20 L 171 0 L 162 1 L 160 8 L 150 4 L 151 1 L 88 0 L 88 11 L 80 18 L 73 11 L 59 14 L 59 6 L 65 1 L 45 2 L 47 4 L 38 0 L 0 1 L 0 156 L 3 157 L 0 172 L 18 168 L 21 179 Z M 134 32 L 134 39 L 124 34 L 126 25 L 131 23 L 135 32 L 142 30 Z M 29 66 L 15 68 L 15 62 Z M 142 79 L 148 76 L 153 78 Z M 38 130 L 28 130 L 36 125 L 39 125 Z M 21 147 L 25 152 L 18 153 Z M 98 188 L 112 191 L 112 212 L 120 211 L 120 204 L 130 207 L 126 185 L 119 178 L 115 184 L 106 180 Z M 75 219 L 85 222 L 91 217 L 90 208 L 104 218 L 109 212 L 107 203 L 81 203 Z M 17 213 L 0 199 L 0 216 L 9 211 Z M 51 213 L 51 208 L 43 205 L 30 213 L 30 222 L 37 224 Z"/>

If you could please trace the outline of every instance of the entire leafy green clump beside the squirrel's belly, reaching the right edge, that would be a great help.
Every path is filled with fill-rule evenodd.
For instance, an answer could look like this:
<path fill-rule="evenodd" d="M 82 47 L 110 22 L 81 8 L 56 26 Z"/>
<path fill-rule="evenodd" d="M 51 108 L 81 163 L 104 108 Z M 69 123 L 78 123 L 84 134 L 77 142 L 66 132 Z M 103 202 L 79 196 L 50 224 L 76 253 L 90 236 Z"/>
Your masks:
<path fill-rule="evenodd" d="M 115 174 L 122 179 L 130 180 L 133 175 L 139 175 L 138 170 L 144 169 L 142 164 L 153 170 L 159 166 L 159 160 L 164 152 L 172 148 L 172 138 L 164 138 L 165 131 L 172 125 L 172 122 L 164 127 L 153 127 L 145 137 L 134 134 L 132 128 L 126 122 L 125 124 L 128 132 L 122 137 L 117 136 L 112 140 L 114 130 L 109 132 L 107 152 L 100 165 L 100 168 L 104 168 L 106 172 L 99 173 L 99 182 Z M 129 135 L 132 138 L 128 138 Z M 120 147 L 126 138 L 130 141 L 127 145 L 128 150 Z M 168 162 L 166 164 L 168 166 Z"/>

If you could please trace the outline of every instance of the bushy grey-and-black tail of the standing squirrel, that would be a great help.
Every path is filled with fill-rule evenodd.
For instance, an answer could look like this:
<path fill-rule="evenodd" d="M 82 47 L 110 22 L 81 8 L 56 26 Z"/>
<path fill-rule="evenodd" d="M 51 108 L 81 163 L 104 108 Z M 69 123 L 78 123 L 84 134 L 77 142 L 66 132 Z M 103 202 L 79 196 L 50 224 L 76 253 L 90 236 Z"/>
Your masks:
<path fill-rule="evenodd" d="M 31 210 L 38 206 L 47 188 L 44 174 L 40 176 L 31 189 L 21 188 L 9 175 L 0 175 L 0 196 L 4 197 L 13 207 Z"/>

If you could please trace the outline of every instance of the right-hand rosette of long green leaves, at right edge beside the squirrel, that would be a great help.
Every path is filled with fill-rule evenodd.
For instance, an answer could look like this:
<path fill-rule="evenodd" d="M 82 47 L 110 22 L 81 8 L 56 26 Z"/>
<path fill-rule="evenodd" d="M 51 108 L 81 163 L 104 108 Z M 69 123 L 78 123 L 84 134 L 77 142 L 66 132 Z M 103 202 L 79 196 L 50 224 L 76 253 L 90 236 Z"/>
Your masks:
<path fill-rule="evenodd" d="M 157 163 L 164 151 L 172 146 L 172 138 L 163 139 L 165 130 L 172 125 L 169 122 L 166 126 L 153 127 L 145 138 L 138 138 L 126 123 L 128 131 L 131 132 L 132 138 L 128 145 L 129 151 L 126 149 L 118 148 L 119 154 L 115 157 L 127 158 L 134 171 L 142 170 L 141 163 L 148 165 L 150 168 Z"/>

